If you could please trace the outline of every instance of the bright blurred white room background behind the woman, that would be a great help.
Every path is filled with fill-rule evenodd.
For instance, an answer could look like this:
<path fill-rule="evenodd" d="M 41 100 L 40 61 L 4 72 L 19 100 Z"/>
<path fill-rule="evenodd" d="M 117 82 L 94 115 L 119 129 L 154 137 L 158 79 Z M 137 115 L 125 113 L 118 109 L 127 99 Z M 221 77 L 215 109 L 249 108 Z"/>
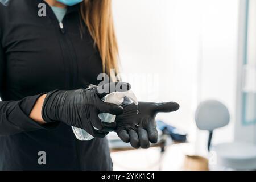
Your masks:
<path fill-rule="evenodd" d="M 114 170 L 256 169 L 256 1 L 113 0 L 113 13 L 123 80 L 140 101 L 178 102 L 157 119 L 187 134 L 186 142 L 164 135 L 149 150 L 110 142 Z M 213 129 L 195 119 L 208 100 L 220 105 L 202 105 L 199 122 L 223 122 L 209 151 Z"/>

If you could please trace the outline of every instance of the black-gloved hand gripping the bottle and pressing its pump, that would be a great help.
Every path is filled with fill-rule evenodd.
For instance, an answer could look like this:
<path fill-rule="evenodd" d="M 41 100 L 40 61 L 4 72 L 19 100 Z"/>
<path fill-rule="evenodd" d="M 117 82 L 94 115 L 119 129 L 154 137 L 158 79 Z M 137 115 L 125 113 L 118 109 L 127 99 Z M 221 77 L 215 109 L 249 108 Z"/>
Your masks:
<path fill-rule="evenodd" d="M 105 137 L 108 128 L 98 118 L 99 113 L 122 114 L 123 108 L 101 100 L 106 94 L 130 89 L 130 84 L 116 82 L 79 90 L 49 92 L 44 100 L 42 118 L 46 122 L 62 121 L 70 126 L 79 127 L 93 137 Z M 95 130 L 94 127 L 99 130 Z"/>

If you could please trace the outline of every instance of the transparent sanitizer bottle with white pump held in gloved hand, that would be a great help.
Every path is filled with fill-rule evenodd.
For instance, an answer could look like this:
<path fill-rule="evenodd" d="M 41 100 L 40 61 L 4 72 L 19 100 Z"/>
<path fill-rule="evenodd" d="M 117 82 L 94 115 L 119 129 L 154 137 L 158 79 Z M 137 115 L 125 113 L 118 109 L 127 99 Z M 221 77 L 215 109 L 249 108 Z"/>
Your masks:
<path fill-rule="evenodd" d="M 121 105 L 124 97 L 130 98 L 131 101 L 134 102 L 135 105 L 138 106 L 139 102 L 135 96 L 135 94 L 129 90 L 127 92 L 113 92 L 102 98 L 102 101 Z M 109 113 L 100 113 L 98 114 L 98 117 L 101 119 L 101 121 L 113 123 L 115 121 L 115 115 L 109 114 Z M 96 128 L 95 128 L 96 129 Z M 87 133 L 84 129 L 80 129 L 77 127 L 72 126 L 73 133 L 75 134 L 76 138 L 81 141 L 89 141 L 92 140 L 94 137 Z M 97 130 L 97 129 L 96 129 Z"/>

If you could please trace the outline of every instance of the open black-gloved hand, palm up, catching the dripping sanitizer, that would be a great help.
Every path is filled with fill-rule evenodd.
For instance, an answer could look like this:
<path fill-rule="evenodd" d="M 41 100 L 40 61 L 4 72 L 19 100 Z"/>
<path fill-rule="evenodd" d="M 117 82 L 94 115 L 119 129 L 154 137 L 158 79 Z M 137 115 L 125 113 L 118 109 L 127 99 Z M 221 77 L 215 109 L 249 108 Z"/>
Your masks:
<path fill-rule="evenodd" d="M 135 104 L 123 104 L 123 113 L 118 115 L 117 134 L 123 142 L 130 142 L 134 148 L 148 148 L 151 143 L 158 141 L 158 131 L 156 130 L 156 114 L 168 113 L 179 109 L 179 104 L 175 102 L 151 103 L 139 102 Z"/>

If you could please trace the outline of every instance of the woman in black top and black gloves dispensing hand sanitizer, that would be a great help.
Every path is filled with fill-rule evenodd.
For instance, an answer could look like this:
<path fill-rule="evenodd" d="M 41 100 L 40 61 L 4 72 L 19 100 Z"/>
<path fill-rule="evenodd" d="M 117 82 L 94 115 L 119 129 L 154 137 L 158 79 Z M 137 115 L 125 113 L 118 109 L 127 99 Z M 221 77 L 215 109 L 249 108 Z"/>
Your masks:
<path fill-rule="evenodd" d="M 106 104 L 106 93 L 85 89 L 118 71 L 110 0 L 0 2 L 0 169 L 111 170 L 108 131 L 135 148 L 157 141 L 156 113 L 179 105 L 140 102 L 137 114 L 128 101 Z M 121 115 L 109 129 L 98 113 Z M 71 126 L 95 138 L 81 142 Z"/>

